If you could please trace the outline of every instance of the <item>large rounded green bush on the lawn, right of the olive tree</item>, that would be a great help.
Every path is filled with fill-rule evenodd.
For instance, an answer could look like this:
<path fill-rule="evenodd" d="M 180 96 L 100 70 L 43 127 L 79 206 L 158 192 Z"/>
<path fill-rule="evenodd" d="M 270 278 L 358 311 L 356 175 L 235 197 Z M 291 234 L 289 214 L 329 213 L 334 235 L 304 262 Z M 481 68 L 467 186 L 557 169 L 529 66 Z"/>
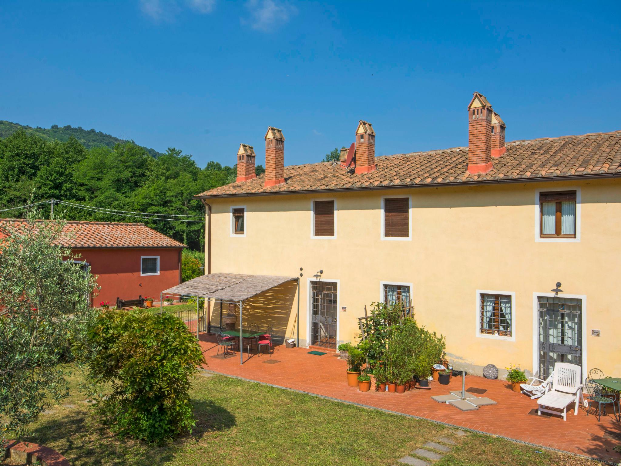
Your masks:
<path fill-rule="evenodd" d="M 113 431 L 149 442 L 191 431 L 189 377 L 204 357 L 181 320 L 109 309 L 97 316 L 85 343 L 94 350 L 89 376 L 112 390 L 97 409 Z"/>

